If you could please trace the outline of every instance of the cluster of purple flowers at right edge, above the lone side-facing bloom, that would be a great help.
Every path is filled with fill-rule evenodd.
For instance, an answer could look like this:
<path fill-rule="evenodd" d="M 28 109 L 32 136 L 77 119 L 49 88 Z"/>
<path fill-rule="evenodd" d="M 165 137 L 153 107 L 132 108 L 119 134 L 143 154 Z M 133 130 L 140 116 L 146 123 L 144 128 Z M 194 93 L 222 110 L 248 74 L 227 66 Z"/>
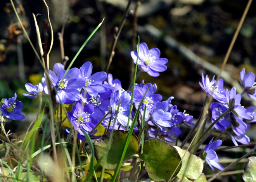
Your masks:
<path fill-rule="evenodd" d="M 254 74 L 252 72 L 246 74 L 243 68 L 240 72 L 240 83 L 244 88 L 243 94 L 247 94 L 251 99 L 256 100 L 254 80 Z M 231 138 L 235 145 L 238 145 L 237 141 L 242 144 L 249 143 L 250 139 L 246 136 L 245 132 L 250 128 L 251 122 L 256 122 L 254 107 L 251 106 L 245 109 L 241 106 L 241 94 L 236 93 L 235 87 L 231 88 L 231 90 L 224 90 L 223 80 L 221 78 L 216 82 L 213 77 L 210 81 L 208 75 L 204 78 L 202 74 L 202 83 L 199 82 L 199 84 L 204 92 L 208 95 L 212 95 L 215 100 L 210 105 L 211 122 L 214 122 L 224 112 L 230 111 L 228 114 L 221 117 L 221 119 L 214 124 L 214 127 L 222 131 L 231 128 L 234 132 Z"/>

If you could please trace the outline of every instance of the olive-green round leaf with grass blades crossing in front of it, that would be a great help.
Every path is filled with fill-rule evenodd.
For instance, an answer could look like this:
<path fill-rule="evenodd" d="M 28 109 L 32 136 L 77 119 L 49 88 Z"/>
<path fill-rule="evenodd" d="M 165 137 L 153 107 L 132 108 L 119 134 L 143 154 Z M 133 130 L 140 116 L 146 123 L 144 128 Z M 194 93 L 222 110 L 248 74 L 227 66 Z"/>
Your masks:
<path fill-rule="evenodd" d="M 102 138 L 97 139 L 93 145 L 95 148 L 95 157 L 99 162 L 100 166 L 104 167 L 108 170 L 114 170 L 118 163 L 119 156 L 122 153 L 123 145 L 125 143 L 126 136 L 128 131 L 123 130 L 115 130 L 113 133 L 113 137 L 111 138 L 111 146 L 109 149 L 109 153 L 107 158 L 104 160 L 103 157 L 106 156 L 109 139 L 110 139 L 110 132 L 106 133 L 102 136 Z M 138 138 L 135 134 L 131 135 L 131 139 L 125 153 L 124 161 L 127 161 L 133 157 L 139 150 L 139 142 Z"/>

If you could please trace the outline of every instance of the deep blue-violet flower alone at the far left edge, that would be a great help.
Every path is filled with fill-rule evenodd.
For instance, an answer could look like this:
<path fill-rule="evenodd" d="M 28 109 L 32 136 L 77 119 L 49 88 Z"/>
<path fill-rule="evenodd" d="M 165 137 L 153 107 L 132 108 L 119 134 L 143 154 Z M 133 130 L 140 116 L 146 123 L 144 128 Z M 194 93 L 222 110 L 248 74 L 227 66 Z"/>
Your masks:
<path fill-rule="evenodd" d="M 25 118 L 25 116 L 21 114 L 23 104 L 18 100 L 15 102 L 16 99 L 16 93 L 14 94 L 14 97 L 8 100 L 5 98 L 5 101 L 2 107 L 0 108 L 2 111 L 2 115 L 7 117 L 8 119 L 17 120 Z"/>

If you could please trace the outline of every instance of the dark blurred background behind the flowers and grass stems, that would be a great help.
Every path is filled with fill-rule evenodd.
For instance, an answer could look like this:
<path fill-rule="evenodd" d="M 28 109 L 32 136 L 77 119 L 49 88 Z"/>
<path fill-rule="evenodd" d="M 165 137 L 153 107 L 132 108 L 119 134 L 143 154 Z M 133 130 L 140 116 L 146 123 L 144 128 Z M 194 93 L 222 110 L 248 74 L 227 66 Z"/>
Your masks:
<path fill-rule="evenodd" d="M 93 73 L 104 70 L 109 59 L 113 37 L 122 21 L 128 0 L 46 0 L 54 31 L 54 45 L 50 54 L 50 69 L 62 63 L 58 32 L 64 29 L 64 54 L 73 59 L 81 45 L 102 22 L 100 29 L 86 44 L 73 64 L 78 67 L 90 61 Z M 137 36 L 150 48 L 159 48 L 161 58 L 167 58 L 168 69 L 159 77 L 142 73 L 139 83 L 156 83 L 157 94 L 163 100 L 173 96 L 172 104 L 194 118 L 199 116 L 205 93 L 199 86 L 201 73 L 210 78 L 218 74 L 235 29 L 242 17 L 247 1 L 241 0 L 141 0 L 131 1 L 127 17 L 116 44 L 115 54 L 108 73 L 122 82 L 124 89 L 131 82 Z M 14 0 L 29 37 L 37 49 L 34 13 L 41 31 L 43 46 L 47 29 L 47 9 L 43 1 Z M 135 7 L 137 6 L 137 10 Z M 36 112 L 38 101 L 24 97 L 25 83 L 38 84 L 43 77 L 43 68 L 21 30 L 9 0 L 0 1 L 0 98 L 13 97 L 24 104 L 24 112 Z M 251 4 L 244 24 L 234 44 L 225 71 L 225 87 L 239 82 L 242 68 L 255 73 L 256 66 L 256 2 Z M 130 11 L 132 10 L 132 11 Z M 133 29 L 136 29 L 134 32 Z M 239 91 L 239 88 L 237 88 Z M 252 102 L 243 101 L 245 107 Z M 255 103 L 253 103 L 255 105 Z M 14 123 L 13 123 L 14 124 Z M 16 124 L 17 125 L 17 124 Z M 255 126 L 252 126 L 252 128 Z M 255 129 L 255 128 L 254 128 Z M 250 132 L 250 131 L 249 131 Z M 251 131 L 251 138 L 254 132 Z M 249 134 L 248 134 L 249 135 Z"/>

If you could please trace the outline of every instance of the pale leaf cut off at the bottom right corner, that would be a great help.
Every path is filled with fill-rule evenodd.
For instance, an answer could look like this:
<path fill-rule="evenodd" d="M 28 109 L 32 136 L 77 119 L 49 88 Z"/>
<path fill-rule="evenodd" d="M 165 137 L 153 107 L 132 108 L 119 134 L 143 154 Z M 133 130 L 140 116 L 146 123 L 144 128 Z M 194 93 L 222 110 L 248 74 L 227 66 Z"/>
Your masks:
<path fill-rule="evenodd" d="M 245 182 L 255 182 L 256 181 L 256 157 L 249 157 L 249 162 L 244 168 L 243 180 Z"/>

